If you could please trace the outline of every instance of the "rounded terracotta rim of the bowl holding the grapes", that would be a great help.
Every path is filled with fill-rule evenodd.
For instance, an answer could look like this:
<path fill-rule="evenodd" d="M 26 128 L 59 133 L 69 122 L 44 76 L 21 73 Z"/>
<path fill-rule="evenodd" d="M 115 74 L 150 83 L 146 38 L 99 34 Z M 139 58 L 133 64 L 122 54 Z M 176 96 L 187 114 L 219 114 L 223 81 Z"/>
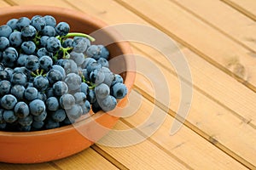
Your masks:
<path fill-rule="evenodd" d="M 55 12 L 58 12 L 60 15 L 74 15 L 75 17 L 78 17 L 79 20 L 96 20 L 96 23 L 94 25 L 96 27 L 99 27 L 99 29 L 109 26 L 107 23 L 103 22 L 102 20 L 99 20 L 95 16 L 92 16 L 90 14 L 87 14 L 85 12 L 80 12 L 78 10 L 70 9 L 70 8 L 62 8 L 62 7 L 55 7 L 55 6 L 48 6 L 48 5 L 20 5 L 20 6 L 11 6 L 11 7 L 4 7 L 0 8 L 0 16 L 1 14 L 14 14 L 14 13 L 24 13 L 27 11 L 32 11 L 33 13 L 47 13 L 49 10 L 54 8 Z M 116 32 L 118 33 L 118 32 Z M 120 36 L 120 35 L 118 35 Z M 114 39 L 116 38 L 115 36 L 113 37 Z M 119 44 L 119 48 L 123 52 L 123 54 L 130 54 L 132 55 L 132 50 L 131 50 L 131 45 L 130 42 L 116 42 Z M 133 57 L 129 57 L 129 59 L 125 59 L 126 66 L 127 68 L 132 68 L 131 70 L 128 69 L 128 71 L 125 72 L 125 80 L 124 83 L 127 85 L 128 88 L 128 93 L 131 92 L 131 88 L 135 82 L 135 71 L 133 68 L 135 67 L 135 59 Z M 126 98 L 126 97 L 125 97 Z M 118 105 L 121 105 L 124 102 L 124 99 L 121 99 L 118 101 Z M 88 113 L 90 114 L 90 113 Z M 106 114 L 103 111 L 98 111 L 93 115 L 90 115 L 90 119 L 96 120 L 96 118 L 102 116 L 103 114 Z M 108 113 L 107 113 L 108 114 Z M 88 123 L 88 118 L 85 118 L 79 122 L 75 122 L 70 125 L 66 125 L 63 127 L 56 127 L 52 129 L 44 129 L 44 130 L 39 130 L 39 131 L 31 131 L 31 132 L 8 132 L 8 131 L 0 131 L 0 137 L 1 136 L 14 136 L 14 137 L 26 137 L 26 136 L 41 136 L 45 134 L 55 134 L 55 133 L 63 133 L 66 131 L 73 131 L 77 130 L 77 127 L 83 126 L 85 123 Z"/>

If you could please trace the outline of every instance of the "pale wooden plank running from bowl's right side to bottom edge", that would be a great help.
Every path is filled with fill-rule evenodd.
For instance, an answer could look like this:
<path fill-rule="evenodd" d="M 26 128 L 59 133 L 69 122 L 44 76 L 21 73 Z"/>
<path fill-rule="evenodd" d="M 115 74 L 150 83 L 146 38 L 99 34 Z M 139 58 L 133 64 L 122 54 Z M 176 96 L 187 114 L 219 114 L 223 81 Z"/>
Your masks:
<path fill-rule="evenodd" d="M 131 99 L 138 99 L 139 94 L 132 93 Z M 154 113 L 153 110 L 155 111 Z M 122 119 L 122 122 L 132 125 L 130 128 L 136 128 L 143 122 L 146 122 L 151 114 L 155 117 L 165 115 L 165 112 L 159 107 L 143 99 L 139 111 L 132 116 Z M 156 121 L 156 120 L 155 120 Z M 150 141 L 160 146 L 162 150 L 178 157 L 181 161 L 187 162 L 192 169 L 244 169 L 238 161 L 227 156 L 222 150 L 218 150 L 213 144 L 201 138 L 200 135 L 193 132 L 189 127 L 183 126 L 177 133 L 170 135 L 170 128 L 173 117 L 166 115 L 165 122 L 159 128 L 148 122 L 143 129 L 154 128 L 157 131 L 150 136 Z"/>

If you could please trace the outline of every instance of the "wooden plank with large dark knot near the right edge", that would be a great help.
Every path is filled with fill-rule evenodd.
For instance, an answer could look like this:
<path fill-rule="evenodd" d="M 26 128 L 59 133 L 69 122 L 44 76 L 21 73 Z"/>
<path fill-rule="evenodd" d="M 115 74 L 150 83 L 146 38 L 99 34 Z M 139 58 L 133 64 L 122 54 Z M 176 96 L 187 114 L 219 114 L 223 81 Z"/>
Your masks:
<path fill-rule="evenodd" d="M 161 3 L 156 0 L 117 0 L 117 2 L 133 10 L 144 20 L 157 26 L 177 42 L 207 59 L 212 65 L 217 66 L 230 76 L 234 73 L 238 81 L 244 82 L 248 88 L 256 90 L 256 77 L 253 77 L 256 73 L 256 68 L 253 67 L 256 60 L 251 56 L 251 52 L 189 14 L 183 8 L 178 7 L 177 4 L 167 0 L 163 0 Z M 150 12 L 152 10 L 154 13 Z M 234 58 L 239 61 L 243 72 L 228 65 Z"/>

